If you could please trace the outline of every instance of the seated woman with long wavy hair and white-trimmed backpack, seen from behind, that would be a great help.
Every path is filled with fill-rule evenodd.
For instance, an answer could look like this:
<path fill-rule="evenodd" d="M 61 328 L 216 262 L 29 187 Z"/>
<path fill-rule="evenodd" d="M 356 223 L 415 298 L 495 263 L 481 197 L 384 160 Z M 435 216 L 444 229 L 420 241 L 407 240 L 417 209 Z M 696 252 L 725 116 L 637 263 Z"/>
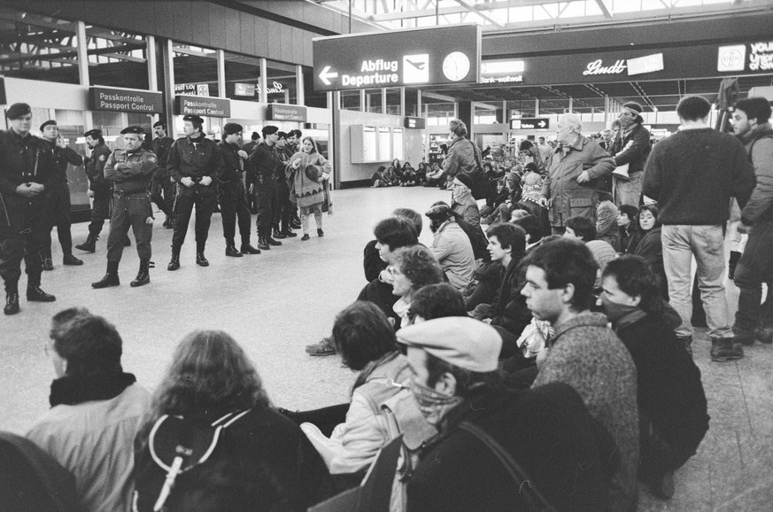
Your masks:
<path fill-rule="evenodd" d="M 207 486 L 213 493 L 225 492 L 230 483 L 202 477 L 213 467 L 238 469 L 236 477 L 249 481 L 252 492 L 239 496 L 240 510 L 301 511 L 333 493 L 320 454 L 296 423 L 272 407 L 247 354 L 225 332 L 199 330 L 183 338 L 146 421 L 137 436 L 135 500 L 140 512 L 164 506 L 182 510 L 182 500 Z M 174 478 L 171 493 L 165 493 L 169 466 L 176 459 L 185 470 Z"/>

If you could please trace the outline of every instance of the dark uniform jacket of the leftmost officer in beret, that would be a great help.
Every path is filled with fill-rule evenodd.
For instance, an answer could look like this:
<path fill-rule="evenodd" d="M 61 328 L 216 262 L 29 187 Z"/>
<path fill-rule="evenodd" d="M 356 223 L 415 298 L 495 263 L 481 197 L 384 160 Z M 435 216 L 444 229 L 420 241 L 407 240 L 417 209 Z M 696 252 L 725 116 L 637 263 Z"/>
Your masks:
<path fill-rule="evenodd" d="M 16 188 L 28 182 L 50 187 L 55 172 L 53 153 L 43 139 L 22 137 L 13 130 L 0 132 L 0 233 L 5 229 L 18 233 L 39 220 L 45 194 L 25 198 L 16 193 Z"/>

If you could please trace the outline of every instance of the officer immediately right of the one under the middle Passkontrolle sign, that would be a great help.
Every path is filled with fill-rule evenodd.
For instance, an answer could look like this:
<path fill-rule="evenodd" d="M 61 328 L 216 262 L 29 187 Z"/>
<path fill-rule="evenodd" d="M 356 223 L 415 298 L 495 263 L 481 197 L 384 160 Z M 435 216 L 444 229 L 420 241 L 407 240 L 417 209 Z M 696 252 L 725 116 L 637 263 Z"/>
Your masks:
<path fill-rule="evenodd" d="M 242 125 L 228 122 L 223 125 L 223 140 L 218 146 L 223 157 L 223 172 L 220 182 L 220 218 L 223 222 L 223 237 L 226 239 L 226 256 L 241 258 L 242 254 L 260 254 L 250 244 L 251 215 L 244 190 L 244 164 L 249 158 L 247 151 L 239 149 Z M 236 219 L 239 220 L 239 234 L 242 237 L 241 251 L 236 250 Z"/>

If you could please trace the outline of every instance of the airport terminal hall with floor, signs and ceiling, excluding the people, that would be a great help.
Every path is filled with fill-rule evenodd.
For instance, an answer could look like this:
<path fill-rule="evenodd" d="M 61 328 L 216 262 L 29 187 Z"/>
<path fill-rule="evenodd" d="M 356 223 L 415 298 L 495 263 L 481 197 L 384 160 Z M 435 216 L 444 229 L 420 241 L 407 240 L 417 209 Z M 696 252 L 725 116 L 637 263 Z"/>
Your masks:
<path fill-rule="evenodd" d="M 185 116 L 203 118 L 205 136 L 217 141 L 229 123 L 243 128 L 242 144 L 267 126 L 300 130 L 332 165 L 333 206 L 322 216 L 324 237 L 312 219 L 310 239 L 288 237 L 242 258 L 225 255 L 221 213 L 213 213 L 209 267 L 197 265 L 191 219 L 180 269 L 170 272 L 174 229 L 162 226 L 166 215 L 154 204 L 154 266 L 150 283 L 136 288 L 131 232 L 120 286 L 95 290 L 110 221 L 95 252 L 73 250 L 82 266 L 62 264 L 53 229 L 53 270 L 43 272 L 42 288 L 56 301 L 27 302 L 22 273 L 20 313 L 0 317 L 0 431 L 24 435 L 49 409 L 55 374 L 44 347 L 51 317 L 71 306 L 115 324 L 124 371 L 151 391 L 186 334 L 224 330 L 254 362 L 275 407 L 350 400 L 355 373 L 338 355 L 312 357 L 305 345 L 329 337 L 336 314 L 367 284 L 363 248 L 378 221 L 398 207 L 423 214 L 452 202 L 445 187 L 374 187 L 377 168 L 394 159 L 442 165 L 452 120 L 464 121 L 486 161 L 505 171 L 525 163 L 524 141 L 555 143 L 567 113 L 604 143 L 635 102 L 658 144 L 679 131 L 679 101 L 700 96 L 711 104 L 709 124 L 731 131 L 735 101 L 773 102 L 771 27 L 767 0 L 4 1 L 0 105 L 29 105 L 33 135 L 57 120 L 62 145 L 88 155 L 89 130 L 114 151 L 128 126 L 152 137 L 162 123 L 168 136 L 183 137 Z M 80 244 L 89 236 L 89 180 L 82 165 L 70 165 L 66 177 Z M 419 241 L 431 246 L 423 219 Z M 255 222 L 253 212 L 257 245 Z M 731 250 L 726 240 L 726 259 Z M 723 275 L 732 319 L 738 287 Z M 692 347 L 709 430 L 676 470 L 673 497 L 640 485 L 638 510 L 770 510 L 771 346 L 712 361 L 704 327 Z"/>

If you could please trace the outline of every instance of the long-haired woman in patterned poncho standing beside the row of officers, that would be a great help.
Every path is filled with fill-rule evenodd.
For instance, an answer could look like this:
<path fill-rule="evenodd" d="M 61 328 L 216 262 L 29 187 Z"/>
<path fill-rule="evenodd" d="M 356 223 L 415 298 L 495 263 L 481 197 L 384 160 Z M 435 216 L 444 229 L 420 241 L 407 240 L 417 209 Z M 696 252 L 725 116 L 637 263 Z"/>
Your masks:
<path fill-rule="evenodd" d="M 301 228 L 304 230 L 302 241 L 309 239 L 309 215 L 314 214 L 317 235 L 324 237 L 322 231 L 322 206 L 329 203 L 328 180 L 333 167 L 318 151 L 317 144 L 310 136 L 301 141 L 301 149 L 290 157 L 288 170 L 293 173 L 292 189 L 301 212 Z M 330 207 L 330 205 L 328 205 Z M 330 213 L 331 210 L 328 210 Z"/>

